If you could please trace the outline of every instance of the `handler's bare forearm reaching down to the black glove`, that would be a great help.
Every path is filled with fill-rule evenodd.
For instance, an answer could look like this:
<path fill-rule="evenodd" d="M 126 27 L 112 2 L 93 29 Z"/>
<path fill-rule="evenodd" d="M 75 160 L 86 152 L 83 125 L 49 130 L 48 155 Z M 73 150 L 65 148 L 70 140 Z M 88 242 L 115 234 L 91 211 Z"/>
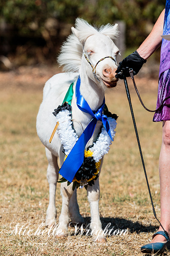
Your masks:
<path fill-rule="evenodd" d="M 137 49 L 139 55 L 145 60 L 153 54 L 153 52 L 158 49 L 161 45 L 161 35 L 163 34 L 163 26 L 164 26 L 164 12 L 165 9 L 161 12 L 158 20 L 153 26 L 152 31 L 148 35 L 148 37 L 144 40 L 141 46 Z"/>

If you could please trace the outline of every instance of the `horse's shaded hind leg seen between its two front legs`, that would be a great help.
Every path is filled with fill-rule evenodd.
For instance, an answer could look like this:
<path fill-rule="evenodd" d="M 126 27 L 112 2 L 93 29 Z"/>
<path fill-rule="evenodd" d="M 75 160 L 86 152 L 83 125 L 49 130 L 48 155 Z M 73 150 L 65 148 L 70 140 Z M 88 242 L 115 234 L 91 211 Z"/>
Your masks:
<path fill-rule="evenodd" d="M 72 222 L 75 222 L 81 225 L 84 222 L 82 215 L 79 213 L 79 205 L 77 203 L 77 189 L 74 189 L 73 195 L 70 199 L 69 203 L 69 217 L 71 218 Z"/>

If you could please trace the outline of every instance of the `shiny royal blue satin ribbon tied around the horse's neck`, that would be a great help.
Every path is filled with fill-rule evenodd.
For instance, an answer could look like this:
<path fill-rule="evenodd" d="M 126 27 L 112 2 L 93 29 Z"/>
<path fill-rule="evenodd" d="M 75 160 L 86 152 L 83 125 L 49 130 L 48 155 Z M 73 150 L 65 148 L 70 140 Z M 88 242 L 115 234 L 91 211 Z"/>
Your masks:
<path fill-rule="evenodd" d="M 80 168 L 80 166 L 84 161 L 85 145 L 88 143 L 88 141 L 92 137 L 98 120 L 102 121 L 105 130 L 111 137 L 110 125 L 109 125 L 107 116 L 102 114 L 103 109 L 105 107 L 105 98 L 103 99 L 102 106 L 99 107 L 97 111 L 92 111 L 88 103 L 84 99 L 84 97 L 80 94 L 80 90 L 79 90 L 80 83 L 81 83 L 81 80 L 80 80 L 80 77 L 78 77 L 77 84 L 76 84 L 77 106 L 81 111 L 90 114 L 93 118 L 91 119 L 91 122 L 88 124 L 85 130 L 83 131 L 82 135 L 77 140 L 76 144 L 68 154 L 67 158 L 62 164 L 61 169 L 59 170 L 59 174 L 61 174 L 62 177 L 64 177 L 66 180 L 70 182 L 72 182 L 76 172 L 78 171 L 78 169 Z M 111 140 L 112 140 L 112 137 L 111 137 Z"/>

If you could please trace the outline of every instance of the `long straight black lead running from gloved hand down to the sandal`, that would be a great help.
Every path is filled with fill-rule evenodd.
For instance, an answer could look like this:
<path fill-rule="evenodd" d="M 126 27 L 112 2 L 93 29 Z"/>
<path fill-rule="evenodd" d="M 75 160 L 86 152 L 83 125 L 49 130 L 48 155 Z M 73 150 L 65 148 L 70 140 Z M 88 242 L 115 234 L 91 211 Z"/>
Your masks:
<path fill-rule="evenodd" d="M 132 71 L 132 70 L 130 70 L 130 71 Z M 148 179 L 147 179 L 147 173 L 146 173 L 146 169 L 145 169 L 145 165 L 144 165 L 144 159 L 143 159 L 143 155 L 142 155 L 142 149 L 141 149 L 141 145 L 140 145 L 140 141 L 139 141 L 139 135 L 138 135 L 137 127 L 136 127 L 135 116 L 134 116 L 134 113 L 133 113 L 132 103 L 131 103 L 131 99 L 130 99 L 129 88 L 128 88 L 127 80 L 126 80 L 126 77 L 125 77 L 125 76 L 123 77 L 123 80 L 124 80 L 124 83 L 125 83 L 125 89 L 126 89 L 127 99 L 128 99 L 128 102 L 129 102 L 130 112 L 131 112 L 132 119 L 133 119 L 133 125 L 134 125 L 134 128 L 135 128 L 136 139 L 137 139 L 138 146 L 139 146 L 139 151 L 140 151 L 140 155 L 141 155 L 142 165 L 143 165 L 143 169 L 144 169 L 144 175 L 145 175 L 145 178 L 146 178 L 147 188 L 148 188 L 148 191 L 149 191 L 150 201 L 151 201 L 151 204 L 152 204 L 153 214 L 154 214 L 156 220 L 159 222 L 159 224 L 160 224 L 160 226 L 162 227 L 162 229 L 164 230 L 164 227 L 162 226 L 161 222 L 160 222 L 159 219 L 156 217 L 156 212 L 155 212 L 155 208 L 154 208 L 154 205 L 153 205 L 153 199 L 152 199 L 152 195 L 151 195 L 151 192 L 150 192 L 150 186 L 149 186 L 149 182 L 148 182 Z M 167 233 L 166 230 L 164 230 L 164 233 L 165 233 L 165 234 L 168 236 L 168 238 L 169 238 L 169 235 L 168 235 L 168 233 Z"/>

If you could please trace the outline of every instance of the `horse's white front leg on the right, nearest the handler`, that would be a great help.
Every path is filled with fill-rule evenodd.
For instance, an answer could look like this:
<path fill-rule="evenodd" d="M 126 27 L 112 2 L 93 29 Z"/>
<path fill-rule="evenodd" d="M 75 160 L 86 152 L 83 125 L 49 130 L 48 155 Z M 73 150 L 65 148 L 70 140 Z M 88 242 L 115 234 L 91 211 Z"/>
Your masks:
<path fill-rule="evenodd" d="M 102 224 L 99 216 L 99 197 L 100 197 L 100 188 L 99 188 L 99 178 L 94 181 L 93 186 L 88 186 L 88 201 L 91 208 L 91 233 L 92 239 L 103 243 L 106 241 L 105 234 L 102 230 Z"/>

